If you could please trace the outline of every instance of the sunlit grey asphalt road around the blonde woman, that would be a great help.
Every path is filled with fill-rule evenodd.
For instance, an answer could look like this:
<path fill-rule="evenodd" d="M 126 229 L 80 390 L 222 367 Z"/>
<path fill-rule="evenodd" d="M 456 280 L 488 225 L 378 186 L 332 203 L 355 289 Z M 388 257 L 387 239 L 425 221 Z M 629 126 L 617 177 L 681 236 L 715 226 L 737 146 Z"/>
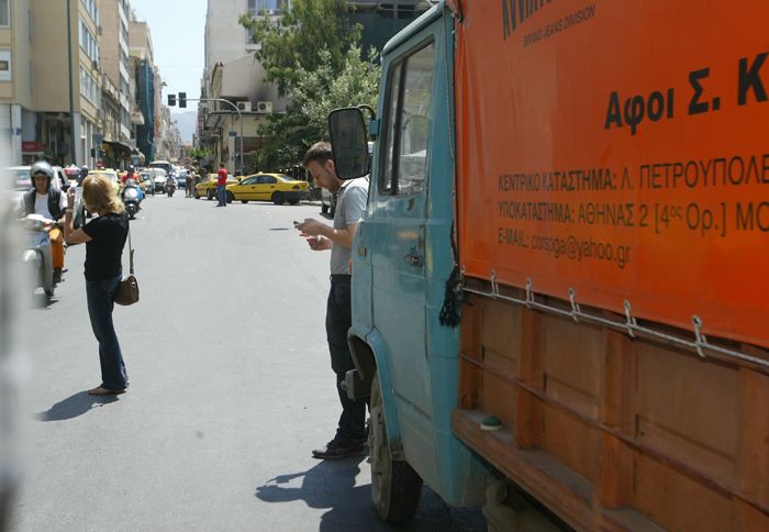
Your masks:
<path fill-rule="evenodd" d="M 94 399 L 85 246 L 27 311 L 19 531 L 379 531 L 365 459 L 319 462 L 339 407 L 324 333 L 328 255 L 292 221 L 320 206 L 155 197 L 132 222 L 141 302 L 114 320 L 130 391 Z M 127 246 L 126 246 L 127 247 Z M 124 257 L 127 269 L 127 254 Z M 481 531 L 423 491 L 398 530 Z"/>

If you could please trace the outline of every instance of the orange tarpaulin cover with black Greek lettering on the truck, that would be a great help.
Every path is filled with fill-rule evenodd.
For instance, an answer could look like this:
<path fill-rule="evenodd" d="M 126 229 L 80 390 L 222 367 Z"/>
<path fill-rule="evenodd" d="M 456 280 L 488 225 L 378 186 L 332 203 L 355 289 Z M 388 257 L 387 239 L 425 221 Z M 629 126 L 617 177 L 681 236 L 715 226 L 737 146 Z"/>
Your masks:
<path fill-rule="evenodd" d="M 769 346 L 769 2 L 461 9 L 466 275 Z"/>

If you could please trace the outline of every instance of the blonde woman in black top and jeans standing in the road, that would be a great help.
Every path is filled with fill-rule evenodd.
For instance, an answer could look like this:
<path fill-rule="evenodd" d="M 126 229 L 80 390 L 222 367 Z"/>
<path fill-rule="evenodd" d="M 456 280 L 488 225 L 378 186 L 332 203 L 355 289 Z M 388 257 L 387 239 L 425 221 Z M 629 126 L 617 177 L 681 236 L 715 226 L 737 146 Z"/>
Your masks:
<path fill-rule="evenodd" d="M 86 296 L 91 329 L 99 342 L 101 385 L 88 390 L 91 396 L 123 394 L 129 386 L 123 354 L 112 323 L 114 293 L 123 271 L 122 256 L 129 234 L 129 214 L 112 187 L 112 182 L 98 175 L 82 181 L 82 201 L 89 212 L 96 212 L 83 228 L 73 228 L 75 196 L 67 192 L 67 210 L 64 218 L 64 237 L 70 244 L 86 243 Z"/>

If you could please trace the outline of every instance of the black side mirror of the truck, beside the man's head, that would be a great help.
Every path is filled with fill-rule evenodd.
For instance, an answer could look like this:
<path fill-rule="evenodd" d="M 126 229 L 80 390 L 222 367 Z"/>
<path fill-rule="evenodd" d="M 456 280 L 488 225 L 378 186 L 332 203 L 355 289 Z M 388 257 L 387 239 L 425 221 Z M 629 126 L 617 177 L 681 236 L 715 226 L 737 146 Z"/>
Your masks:
<path fill-rule="evenodd" d="M 358 108 L 336 109 L 328 114 L 331 148 L 339 179 L 355 179 L 370 171 L 368 134 Z"/>

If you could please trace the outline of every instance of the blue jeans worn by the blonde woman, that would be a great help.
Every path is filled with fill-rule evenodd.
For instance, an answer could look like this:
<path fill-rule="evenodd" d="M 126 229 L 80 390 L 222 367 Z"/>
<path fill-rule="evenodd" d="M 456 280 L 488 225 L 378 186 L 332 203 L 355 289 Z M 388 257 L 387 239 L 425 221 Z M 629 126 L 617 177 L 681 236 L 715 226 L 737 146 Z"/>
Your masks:
<path fill-rule="evenodd" d="M 112 323 L 114 293 L 122 275 L 107 280 L 87 280 L 88 315 L 91 329 L 99 342 L 99 362 L 101 363 L 101 386 L 110 390 L 120 390 L 127 385 L 127 374 L 123 354 Z"/>

